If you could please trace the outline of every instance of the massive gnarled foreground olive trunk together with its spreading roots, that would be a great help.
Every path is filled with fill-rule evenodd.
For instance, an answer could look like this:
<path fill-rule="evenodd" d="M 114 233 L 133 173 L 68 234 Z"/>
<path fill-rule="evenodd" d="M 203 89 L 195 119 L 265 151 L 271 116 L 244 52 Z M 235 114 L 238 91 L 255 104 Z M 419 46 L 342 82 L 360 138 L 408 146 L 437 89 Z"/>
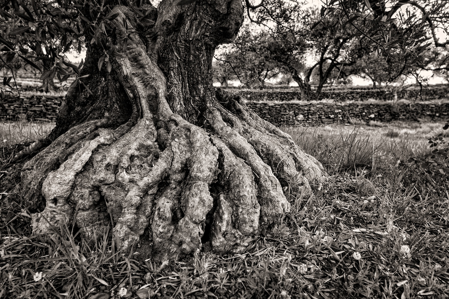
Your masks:
<path fill-rule="evenodd" d="M 212 86 L 214 49 L 237 34 L 241 2 L 163 0 L 140 34 L 130 33 L 141 24 L 128 8 L 112 13 L 123 58 L 99 72 L 89 49 L 92 94 L 69 91 L 52 143 L 23 168 L 35 232 L 66 222 L 92 238 L 112 222 L 119 245 L 139 243 L 142 257 L 242 251 L 289 210 L 283 187 L 311 196 L 324 173 L 289 135 Z"/>

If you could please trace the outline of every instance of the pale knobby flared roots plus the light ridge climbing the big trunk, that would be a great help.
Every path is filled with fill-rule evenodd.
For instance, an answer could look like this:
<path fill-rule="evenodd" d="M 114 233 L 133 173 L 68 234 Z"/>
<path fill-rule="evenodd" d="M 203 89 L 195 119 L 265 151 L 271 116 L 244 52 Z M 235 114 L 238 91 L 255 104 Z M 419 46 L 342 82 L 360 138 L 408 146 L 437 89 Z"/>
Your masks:
<path fill-rule="evenodd" d="M 319 188 L 321 164 L 220 89 L 195 107 L 202 125 L 173 113 L 163 71 L 122 25 L 129 10 L 114 10 L 117 35 L 128 40 L 113 69 L 140 117 L 119 126 L 107 113 L 85 121 L 26 163 L 25 197 L 40 210 L 35 233 L 75 223 L 89 239 L 113 225 L 122 248 L 139 243 L 142 256 L 158 260 L 205 244 L 216 253 L 242 251 L 289 211 L 283 187 L 304 196 Z"/>

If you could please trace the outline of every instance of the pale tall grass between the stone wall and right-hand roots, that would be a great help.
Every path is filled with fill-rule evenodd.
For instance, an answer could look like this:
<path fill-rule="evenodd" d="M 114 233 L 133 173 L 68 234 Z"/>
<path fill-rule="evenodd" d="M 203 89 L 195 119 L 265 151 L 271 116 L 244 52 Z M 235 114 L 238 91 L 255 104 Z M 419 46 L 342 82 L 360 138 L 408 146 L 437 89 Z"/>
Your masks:
<path fill-rule="evenodd" d="M 398 160 L 422 156 L 430 152 L 427 138 L 440 133 L 443 126 L 443 122 L 394 122 L 382 126 L 327 125 L 283 130 L 328 171 L 338 173 L 361 167 L 370 171 L 388 169 Z"/>

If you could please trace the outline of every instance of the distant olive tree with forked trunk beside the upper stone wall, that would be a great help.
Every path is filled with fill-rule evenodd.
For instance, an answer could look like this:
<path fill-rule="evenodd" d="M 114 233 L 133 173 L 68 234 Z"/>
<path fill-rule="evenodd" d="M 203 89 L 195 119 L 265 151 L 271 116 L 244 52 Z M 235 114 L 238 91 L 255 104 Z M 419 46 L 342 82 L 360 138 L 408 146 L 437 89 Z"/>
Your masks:
<path fill-rule="evenodd" d="M 344 24 L 347 20 L 344 14 L 321 20 L 317 9 L 308 9 L 303 10 L 301 16 L 295 26 L 276 25 L 262 30 L 259 35 L 247 27 L 233 43 L 239 50 L 234 57 L 241 57 L 234 65 L 264 69 L 259 72 L 264 75 L 289 73 L 303 91 L 304 98 L 313 99 L 321 93 L 324 84 L 335 81 L 331 79 L 335 72 L 339 74 L 341 68 L 355 64 L 371 51 L 372 42 L 350 24 Z M 312 66 L 306 64 L 310 57 L 316 61 Z M 317 85 L 316 91 L 312 91 L 313 83 Z"/>

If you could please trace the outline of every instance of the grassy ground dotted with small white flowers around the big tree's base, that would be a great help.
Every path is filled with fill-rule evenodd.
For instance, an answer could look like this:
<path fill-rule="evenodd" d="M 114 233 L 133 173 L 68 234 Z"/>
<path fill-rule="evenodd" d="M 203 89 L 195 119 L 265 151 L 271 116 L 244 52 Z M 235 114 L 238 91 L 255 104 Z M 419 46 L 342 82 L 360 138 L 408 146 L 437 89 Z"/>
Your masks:
<path fill-rule="evenodd" d="M 52 126 L 1 124 L 0 170 Z M 329 178 L 312 199 L 287 188 L 291 211 L 240 255 L 139 263 L 109 231 L 95 244 L 69 227 L 33 236 L 29 212 L 4 197 L 0 298 L 447 298 L 449 158 L 428 143 L 449 139 L 443 126 L 283 128 Z"/>

